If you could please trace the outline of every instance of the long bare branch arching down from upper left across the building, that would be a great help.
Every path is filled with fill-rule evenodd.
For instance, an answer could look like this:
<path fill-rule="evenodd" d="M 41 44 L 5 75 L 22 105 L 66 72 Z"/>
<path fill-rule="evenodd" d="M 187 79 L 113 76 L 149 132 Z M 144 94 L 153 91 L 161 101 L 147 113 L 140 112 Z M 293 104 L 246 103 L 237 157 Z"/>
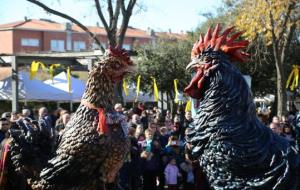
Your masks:
<path fill-rule="evenodd" d="M 46 6 L 45 4 L 41 3 L 40 1 L 37 0 L 27 0 L 41 8 L 43 8 L 45 11 L 52 13 L 54 15 L 60 16 L 62 18 L 65 18 L 73 23 L 75 23 L 76 25 L 78 25 L 82 30 L 84 30 L 86 33 L 88 33 L 88 35 L 95 40 L 95 42 L 99 45 L 101 51 L 104 53 L 105 49 L 103 48 L 103 46 L 101 45 L 100 41 L 96 38 L 95 34 L 93 34 L 86 26 L 84 26 L 83 24 L 81 24 L 79 21 L 77 21 L 76 19 L 74 19 L 73 17 L 66 15 L 64 13 L 58 12 L 56 10 L 51 9 L 50 7 Z"/>

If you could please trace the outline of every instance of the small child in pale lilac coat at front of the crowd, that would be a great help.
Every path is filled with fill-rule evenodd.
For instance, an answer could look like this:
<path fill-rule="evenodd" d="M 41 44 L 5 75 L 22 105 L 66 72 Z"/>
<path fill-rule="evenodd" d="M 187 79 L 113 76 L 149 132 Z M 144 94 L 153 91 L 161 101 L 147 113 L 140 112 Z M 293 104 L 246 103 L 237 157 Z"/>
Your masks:
<path fill-rule="evenodd" d="M 165 168 L 166 185 L 168 190 L 178 189 L 178 177 L 181 176 L 179 168 L 176 165 L 176 159 L 171 158 L 169 164 Z"/>

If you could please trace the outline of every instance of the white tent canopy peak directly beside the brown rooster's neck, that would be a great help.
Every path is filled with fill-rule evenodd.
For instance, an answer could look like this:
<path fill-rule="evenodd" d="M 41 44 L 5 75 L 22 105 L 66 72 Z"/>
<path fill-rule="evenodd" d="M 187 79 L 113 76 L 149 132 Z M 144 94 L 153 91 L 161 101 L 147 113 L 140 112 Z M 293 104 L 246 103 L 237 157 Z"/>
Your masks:
<path fill-rule="evenodd" d="M 66 72 L 61 72 L 53 77 L 53 80 L 49 79 L 44 81 L 44 83 L 66 93 L 69 93 L 69 85 Z M 73 102 L 80 101 L 84 93 L 84 89 L 85 82 L 71 76 L 71 91 L 69 94 L 70 100 L 72 100 Z"/>

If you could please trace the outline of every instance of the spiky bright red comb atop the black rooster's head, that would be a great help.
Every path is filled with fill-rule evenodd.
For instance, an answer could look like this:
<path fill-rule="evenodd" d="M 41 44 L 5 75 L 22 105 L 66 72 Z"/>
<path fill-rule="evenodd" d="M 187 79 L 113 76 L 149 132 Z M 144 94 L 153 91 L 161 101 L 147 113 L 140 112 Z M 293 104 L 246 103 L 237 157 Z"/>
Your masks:
<path fill-rule="evenodd" d="M 237 32 L 228 37 L 233 28 L 227 28 L 221 35 L 219 35 L 220 24 L 217 24 L 213 32 L 209 28 L 204 37 L 200 34 L 198 42 L 193 46 L 191 56 L 197 57 L 210 47 L 213 51 L 222 51 L 233 60 L 247 61 L 249 54 L 243 52 L 242 49 L 246 48 L 249 42 L 247 40 L 235 41 L 243 32 Z"/>

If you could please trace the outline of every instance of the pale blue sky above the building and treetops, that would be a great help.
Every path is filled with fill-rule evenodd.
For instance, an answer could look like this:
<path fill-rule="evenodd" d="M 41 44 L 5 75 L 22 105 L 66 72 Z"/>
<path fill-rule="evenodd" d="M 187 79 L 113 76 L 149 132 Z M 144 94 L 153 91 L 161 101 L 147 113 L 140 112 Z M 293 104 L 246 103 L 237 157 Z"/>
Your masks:
<path fill-rule="evenodd" d="M 46 18 L 56 22 L 65 19 L 50 15 L 42 8 L 26 0 L 0 0 L 0 24 L 31 19 Z M 41 0 L 47 6 L 62 11 L 87 26 L 101 25 L 93 0 Z M 142 2 L 142 11 L 134 10 L 129 26 L 155 31 L 180 33 L 197 28 L 205 17 L 201 13 L 214 12 L 222 0 L 138 0 Z"/>

